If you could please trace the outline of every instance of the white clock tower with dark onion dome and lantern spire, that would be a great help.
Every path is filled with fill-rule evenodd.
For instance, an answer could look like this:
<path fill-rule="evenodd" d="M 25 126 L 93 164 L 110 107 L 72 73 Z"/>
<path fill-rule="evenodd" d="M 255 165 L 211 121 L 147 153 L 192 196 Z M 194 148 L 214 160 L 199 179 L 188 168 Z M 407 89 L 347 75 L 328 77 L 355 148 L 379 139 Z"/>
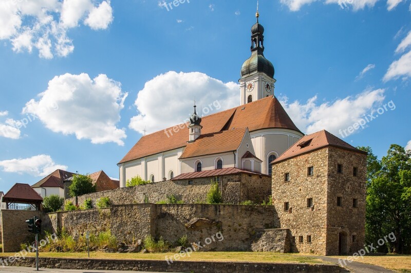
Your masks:
<path fill-rule="evenodd" d="M 264 27 L 257 23 L 251 28 L 251 57 L 241 67 L 239 79 L 241 105 L 274 96 L 274 66 L 264 57 Z"/>

